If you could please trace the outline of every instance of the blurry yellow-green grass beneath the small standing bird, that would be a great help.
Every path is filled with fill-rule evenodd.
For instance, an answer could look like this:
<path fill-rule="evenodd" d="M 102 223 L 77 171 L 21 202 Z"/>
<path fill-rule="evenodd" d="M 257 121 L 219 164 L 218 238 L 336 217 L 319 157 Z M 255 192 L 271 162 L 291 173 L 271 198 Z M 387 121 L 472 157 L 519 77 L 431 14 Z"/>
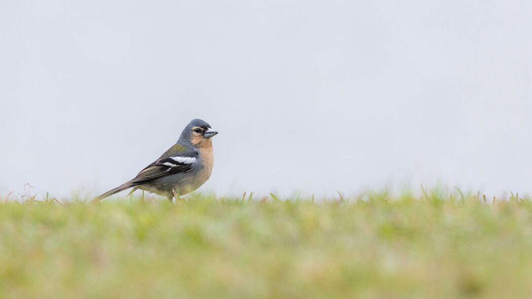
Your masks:
<path fill-rule="evenodd" d="M 0 297 L 532 297 L 532 203 L 474 197 L 0 203 Z"/>

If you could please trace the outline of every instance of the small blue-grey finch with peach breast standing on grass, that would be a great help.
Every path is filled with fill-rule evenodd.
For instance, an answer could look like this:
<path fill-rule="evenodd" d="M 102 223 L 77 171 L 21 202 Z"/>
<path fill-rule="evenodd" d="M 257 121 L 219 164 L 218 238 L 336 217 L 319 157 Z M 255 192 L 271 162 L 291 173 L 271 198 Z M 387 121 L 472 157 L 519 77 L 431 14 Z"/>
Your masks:
<path fill-rule="evenodd" d="M 209 177 L 212 172 L 213 153 L 211 137 L 218 132 L 201 119 L 194 119 L 181 132 L 177 143 L 164 152 L 159 159 L 149 164 L 132 180 L 96 197 L 99 202 L 122 190 L 133 187 L 130 194 L 137 189 L 173 197 L 193 192 Z"/>

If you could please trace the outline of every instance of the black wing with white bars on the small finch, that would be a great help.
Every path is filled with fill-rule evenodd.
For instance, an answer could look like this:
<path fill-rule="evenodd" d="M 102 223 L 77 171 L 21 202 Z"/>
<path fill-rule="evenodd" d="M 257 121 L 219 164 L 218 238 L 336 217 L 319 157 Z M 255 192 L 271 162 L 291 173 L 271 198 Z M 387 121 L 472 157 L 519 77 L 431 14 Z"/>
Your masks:
<path fill-rule="evenodd" d="M 142 184 L 145 181 L 172 175 L 173 173 L 189 172 L 197 160 L 197 153 L 179 153 L 169 157 L 161 157 L 141 170 L 130 183 Z M 139 185 L 140 185 L 139 184 Z"/>

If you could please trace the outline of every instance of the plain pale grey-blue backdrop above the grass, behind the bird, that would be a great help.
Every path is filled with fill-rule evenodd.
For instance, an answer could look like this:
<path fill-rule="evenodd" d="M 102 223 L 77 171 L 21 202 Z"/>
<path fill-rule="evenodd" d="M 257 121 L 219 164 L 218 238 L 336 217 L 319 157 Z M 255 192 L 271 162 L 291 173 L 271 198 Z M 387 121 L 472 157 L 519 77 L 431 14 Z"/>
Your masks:
<path fill-rule="evenodd" d="M 525 0 L 1 1 L 0 194 L 102 193 L 194 118 L 220 131 L 198 192 L 530 194 L 530 20 Z"/>

